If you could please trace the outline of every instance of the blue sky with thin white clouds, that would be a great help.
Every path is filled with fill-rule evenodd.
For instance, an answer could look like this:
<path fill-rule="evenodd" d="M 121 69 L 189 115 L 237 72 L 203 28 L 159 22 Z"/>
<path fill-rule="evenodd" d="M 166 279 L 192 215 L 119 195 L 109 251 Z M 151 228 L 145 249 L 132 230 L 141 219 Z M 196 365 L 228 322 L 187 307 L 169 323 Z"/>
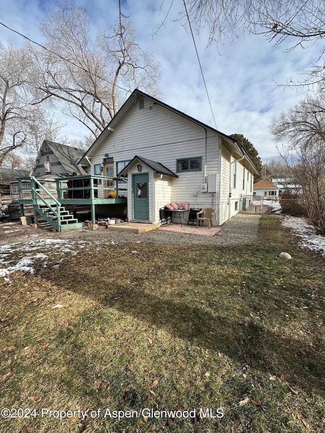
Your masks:
<path fill-rule="evenodd" d="M 72 3 L 88 10 L 94 26 L 110 25 L 118 18 L 118 0 L 74 0 Z M 182 12 L 182 0 L 174 0 L 165 26 L 152 37 L 153 29 L 165 18 L 170 3 L 171 0 L 122 0 L 121 6 L 123 14 L 130 15 L 140 46 L 144 49 L 150 46 L 161 64 L 160 99 L 214 127 L 191 35 L 179 21 L 173 20 Z M 0 21 L 42 43 L 36 22 L 62 4 L 64 1 L 60 0 L 1 2 Z M 3 26 L 0 26 L 0 38 L 4 44 L 23 43 L 21 37 Z M 302 79 L 301 74 L 322 51 L 320 45 L 285 53 L 289 43 L 275 48 L 262 36 L 246 35 L 229 45 L 212 45 L 206 49 L 204 30 L 200 37 L 196 36 L 196 42 L 217 128 L 224 134 L 243 134 L 263 161 L 276 158 L 269 122 L 297 104 L 306 91 L 284 89 L 276 83 Z M 87 134 L 78 122 L 63 121 L 67 122 L 63 135 L 78 139 Z"/>

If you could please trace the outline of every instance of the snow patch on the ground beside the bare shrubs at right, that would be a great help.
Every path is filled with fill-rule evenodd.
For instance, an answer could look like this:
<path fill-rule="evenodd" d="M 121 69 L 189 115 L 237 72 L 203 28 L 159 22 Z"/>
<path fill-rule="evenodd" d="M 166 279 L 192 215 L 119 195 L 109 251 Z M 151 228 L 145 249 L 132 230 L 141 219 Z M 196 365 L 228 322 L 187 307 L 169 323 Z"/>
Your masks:
<path fill-rule="evenodd" d="M 301 238 L 298 245 L 302 248 L 318 252 L 325 257 L 325 237 L 317 235 L 313 225 L 308 220 L 304 218 L 285 218 L 282 225 L 293 230 L 294 234 Z"/>

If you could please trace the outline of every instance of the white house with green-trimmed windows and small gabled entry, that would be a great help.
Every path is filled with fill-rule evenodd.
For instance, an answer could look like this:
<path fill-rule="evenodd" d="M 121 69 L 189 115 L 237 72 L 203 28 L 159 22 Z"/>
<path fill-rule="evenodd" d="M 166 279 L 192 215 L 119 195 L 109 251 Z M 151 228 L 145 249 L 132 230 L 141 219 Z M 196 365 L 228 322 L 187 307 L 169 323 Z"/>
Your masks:
<path fill-rule="evenodd" d="M 137 89 L 79 161 L 86 163 L 92 175 L 125 177 L 127 217 L 147 223 L 159 223 L 166 204 L 187 202 L 214 208 L 220 225 L 252 195 L 257 173 L 234 139 Z"/>

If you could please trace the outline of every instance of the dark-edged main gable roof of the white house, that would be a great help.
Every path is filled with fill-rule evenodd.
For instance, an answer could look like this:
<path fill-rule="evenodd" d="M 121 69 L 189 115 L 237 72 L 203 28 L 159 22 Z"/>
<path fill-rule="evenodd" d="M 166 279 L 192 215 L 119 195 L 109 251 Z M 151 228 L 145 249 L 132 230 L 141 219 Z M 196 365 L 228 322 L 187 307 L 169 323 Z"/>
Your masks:
<path fill-rule="evenodd" d="M 106 126 L 106 128 L 103 130 L 102 134 L 93 142 L 93 144 L 89 147 L 89 149 L 86 151 L 86 153 L 83 155 L 83 157 L 79 160 L 79 164 L 83 161 L 84 158 L 86 158 L 89 153 L 96 148 L 98 145 L 100 145 L 100 143 L 102 142 L 103 138 L 109 134 L 110 131 L 114 130 L 114 126 L 115 124 L 118 123 L 119 119 L 124 115 L 124 112 L 126 111 L 127 107 L 129 106 L 130 103 L 133 102 L 133 98 L 135 96 L 140 96 L 140 97 L 145 97 L 148 99 L 151 99 L 153 105 L 157 104 L 160 107 L 163 107 L 169 111 L 171 111 L 172 113 L 177 114 L 178 116 L 183 117 L 184 119 L 198 125 L 201 126 L 202 128 L 206 129 L 206 130 L 210 130 L 212 132 L 214 132 L 215 134 L 219 135 L 220 137 L 222 137 L 228 144 L 230 144 L 233 149 L 240 155 L 240 156 L 245 156 L 245 158 L 248 160 L 248 162 L 250 163 L 250 165 L 252 166 L 252 168 L 255 170 L 256 174 L 258 174 L 258 170 L 255 166 L 255 164 L 252 162 L 252 160 L 249 158 L 249 156 L 247 155 L 246 152 L 244 152 L 243 148 L 236 142 L 235 139 L 233 139 L 232 137 L 223 134 L 223 132 L 220 132 L 219 130 L 212 128 L 211 126 L 200 122 L 197 119 L 194 119 L 191 116 L 188 116 L 187 114 L 177 110 L 176 108 L 171 107 L 170 105 L 165 104 L 164 102 L 159 101 L 158 99 L 154 98 L 153 96 L 148 95 L 147 93 L 142 92 L 139 89 L 135 89 L 131 95 L 126 99 L 126 101 L 124 102 L 124 104 L 122 105 L 122 107 L 118 110 L 118 112 L 115 114 L 115 116 L 113 117 L 113 119 L 109 122 L 109 124 Z"/>

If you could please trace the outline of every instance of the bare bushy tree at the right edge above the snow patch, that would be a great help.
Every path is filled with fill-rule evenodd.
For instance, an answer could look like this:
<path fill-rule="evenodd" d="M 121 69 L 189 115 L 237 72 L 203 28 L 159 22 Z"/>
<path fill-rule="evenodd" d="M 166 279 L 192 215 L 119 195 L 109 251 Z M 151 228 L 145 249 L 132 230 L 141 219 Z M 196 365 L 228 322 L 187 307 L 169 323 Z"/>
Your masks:
<path fill-rule="evenodd" d="M 273 120 L 271 131 L 291 176 L 302 186 L 308 217 L 325 235 L 325 104 L 307 95 L 299 104 Z"/>

